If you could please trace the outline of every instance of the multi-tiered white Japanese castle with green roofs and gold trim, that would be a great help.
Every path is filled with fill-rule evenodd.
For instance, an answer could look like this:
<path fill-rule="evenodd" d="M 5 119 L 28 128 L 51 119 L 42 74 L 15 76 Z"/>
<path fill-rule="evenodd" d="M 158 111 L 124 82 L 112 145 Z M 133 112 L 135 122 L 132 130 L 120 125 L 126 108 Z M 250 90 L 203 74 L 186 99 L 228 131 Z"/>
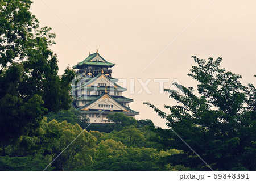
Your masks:
<path fill-rule="evenodd" d="M 92 123 L 114 123 L 106 118 L 115 112 L 122 112 L 135 117 L 139 112 L 131 110 L 129 103 L 133 99 L 122 96 L 126 91 L 117 85 L 118 79 L 111 77 L 112 64 L 98 53 L 90 54 L 84 61 L 73 66 L 77 70 L 77 78 L 72 82 L 72 106 Z"/>

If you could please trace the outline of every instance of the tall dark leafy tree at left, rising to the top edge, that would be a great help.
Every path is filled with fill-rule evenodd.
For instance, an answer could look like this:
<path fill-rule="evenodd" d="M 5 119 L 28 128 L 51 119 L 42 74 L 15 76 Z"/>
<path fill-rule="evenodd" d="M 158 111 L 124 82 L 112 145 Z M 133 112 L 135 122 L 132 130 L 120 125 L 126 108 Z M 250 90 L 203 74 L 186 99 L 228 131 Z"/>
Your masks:
<path fill-rule="evenodd" d="M 70 107 L 75 71 L 59 76 L 51 28 L 39 28 L 30 0 L 0 2 L 0 145 L 39 127 L 48 112 Z"/>

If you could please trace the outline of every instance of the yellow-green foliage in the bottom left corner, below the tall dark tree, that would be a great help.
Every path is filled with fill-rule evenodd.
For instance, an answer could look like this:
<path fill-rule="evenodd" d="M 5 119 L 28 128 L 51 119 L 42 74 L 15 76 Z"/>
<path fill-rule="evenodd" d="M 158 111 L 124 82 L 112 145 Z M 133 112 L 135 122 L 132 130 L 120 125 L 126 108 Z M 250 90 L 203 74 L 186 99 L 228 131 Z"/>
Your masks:
<path fill-rule="evenodd" d="M 2 149 L 0 169 L 43 170 L 70 144 L 47 170 L 88 170 L 96 153 L 96 138 L 87 131 L 81 132 L 78 124 L 44 120 L 37 136 L 22 136 L 15 145 Z"/>

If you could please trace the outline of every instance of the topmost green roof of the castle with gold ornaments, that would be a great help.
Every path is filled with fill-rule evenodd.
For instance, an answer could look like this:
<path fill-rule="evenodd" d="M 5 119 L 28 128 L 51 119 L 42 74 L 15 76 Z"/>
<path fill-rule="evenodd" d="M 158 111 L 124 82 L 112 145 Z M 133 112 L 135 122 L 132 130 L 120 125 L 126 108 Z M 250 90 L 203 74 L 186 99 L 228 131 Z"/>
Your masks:
<path fill-rule="evenodd" d="M 90 62 L 90 60 L 92 60 L 92 59 L 93 59 L 94 57 L 96 57 L 97 55 L 103 60 L 103 62 L 93 62 L 93 61 Z M 93 53 L 93 54 L 90 54 L 87 58 L 85 58 L 84 61 L 81 61 L 81 62 L 77 63 L 77 65 L 73 66 L 73 68 L 74 68 L 74 69 L 80 69 L 80 68 L 82 67 L 82 65 L 96 65 L 96 66 L 108 66 L 108 67 L 112 67 L 112 66 L 114 66 L 115 64 L 112 64 L 112 63 L 106 61 L 103 57 L 100 56 L 100 54 L 98 54 L 98 53 Z"/>

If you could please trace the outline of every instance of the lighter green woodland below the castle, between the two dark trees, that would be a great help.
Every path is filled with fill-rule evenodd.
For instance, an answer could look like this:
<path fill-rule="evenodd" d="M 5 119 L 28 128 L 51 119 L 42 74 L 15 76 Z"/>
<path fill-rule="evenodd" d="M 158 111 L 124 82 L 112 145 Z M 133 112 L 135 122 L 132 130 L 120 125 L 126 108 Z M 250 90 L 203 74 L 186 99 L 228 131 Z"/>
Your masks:
<path fill-rule="evenodd" d="M 71 110 L 44 117 L 33 136 L 21 136 L 16 144 L 2 148 L 0 170 L 44 170 L 82 132 L 82 127 L 87 127 L 88 123 L 80 121 L 77 115 L 79 112 Z M 182 151 L 162 150 L 158 142 L 151 141 L 156 137 L 151 131 L 151 120 L 127 123 L 127 119 L 133 118 L 123 113 L 114 116 L 122 118 L 121 123 L 91 124 L 90 131 L 82 132 L 46 170 L 187 169 L 160 162 Z"/>

